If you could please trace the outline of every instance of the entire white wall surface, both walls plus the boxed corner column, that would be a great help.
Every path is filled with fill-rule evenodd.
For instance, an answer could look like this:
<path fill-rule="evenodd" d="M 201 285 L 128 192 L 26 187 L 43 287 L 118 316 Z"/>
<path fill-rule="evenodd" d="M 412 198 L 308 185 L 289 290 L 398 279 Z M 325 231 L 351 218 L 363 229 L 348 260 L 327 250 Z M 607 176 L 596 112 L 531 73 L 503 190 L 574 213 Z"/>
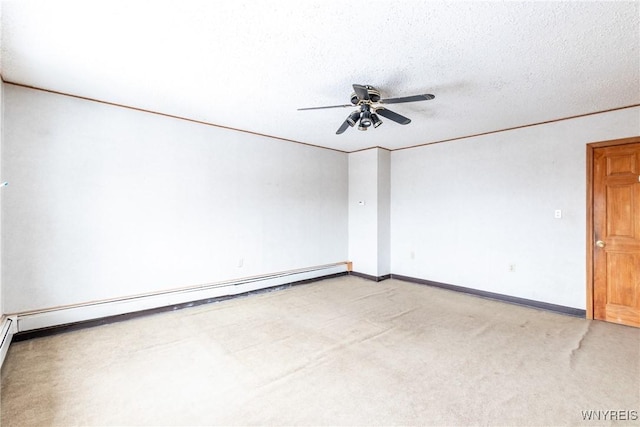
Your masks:
<path fill-rule="evenodd" d="M 5 313 L 347 259 L 584 308 L 585 144 L 640 134 L 634 108 L 346 155 L 3 87 Z"/>

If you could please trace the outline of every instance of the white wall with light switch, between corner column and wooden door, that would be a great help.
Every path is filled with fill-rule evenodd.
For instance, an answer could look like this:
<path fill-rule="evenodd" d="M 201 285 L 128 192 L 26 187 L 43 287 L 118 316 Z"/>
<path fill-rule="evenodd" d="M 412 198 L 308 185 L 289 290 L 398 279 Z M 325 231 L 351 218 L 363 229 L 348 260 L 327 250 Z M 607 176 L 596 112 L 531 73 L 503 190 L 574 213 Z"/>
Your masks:
<path fill-rule="evenodd" d="M 392 272 L 585 308 L 586 144 L 639 134 L 633 108 L 392 152 Z"/>

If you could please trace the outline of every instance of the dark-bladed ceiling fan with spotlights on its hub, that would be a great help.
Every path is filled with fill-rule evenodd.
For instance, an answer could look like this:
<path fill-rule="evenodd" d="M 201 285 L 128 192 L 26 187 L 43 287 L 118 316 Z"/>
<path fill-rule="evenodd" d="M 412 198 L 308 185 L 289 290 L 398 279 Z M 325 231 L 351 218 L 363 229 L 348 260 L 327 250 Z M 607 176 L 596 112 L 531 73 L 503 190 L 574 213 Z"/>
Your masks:
<path fill-rule="evenodd" d="M 425 93 L 422 95 L 403 96 L 401 98 L 382 99 L 380 98 L 380 91 L 373 86 L 354 84 L 353 94 L 351 94 L 351 104 L 329 105 L 326 107 L 298 108 L 298 111 L 357 106 L 358 109 L 349 114 L 349 117 L 347 117 L 344 123 L 342 123 L 342 125 L 340 125 L 340 127 L 336 131 L 336 134 L 341 134 L 345 130 L 347 130 L 349 126 L 353 127 L 358 122 L 359 130 L 367 130 L 371 126 L 377 128 L 382 124 L 382 120 L 380 120 L 378 115 L 386 117 L 387 119 L 392 120 L 396 123 L 400 123 L 401 125 L 408 125 L 409 123 L 411 123 L 411 119 L 385 108 L 384 104 L 401 104 L 404 102 L 428 101 L 433 98 L 435 98 L 434 95 Z"/>

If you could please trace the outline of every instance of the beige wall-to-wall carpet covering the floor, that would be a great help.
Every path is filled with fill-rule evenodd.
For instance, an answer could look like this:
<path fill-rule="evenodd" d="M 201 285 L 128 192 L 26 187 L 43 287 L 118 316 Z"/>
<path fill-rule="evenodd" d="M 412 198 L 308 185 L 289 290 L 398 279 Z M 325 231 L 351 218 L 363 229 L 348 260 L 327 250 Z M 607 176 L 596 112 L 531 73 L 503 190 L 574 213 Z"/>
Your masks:
<path fill-rule="evenodd" d="M 345 276 L 14 343 L 1 422 L 594 426 L 639 384 L 639 329 Z"/>

